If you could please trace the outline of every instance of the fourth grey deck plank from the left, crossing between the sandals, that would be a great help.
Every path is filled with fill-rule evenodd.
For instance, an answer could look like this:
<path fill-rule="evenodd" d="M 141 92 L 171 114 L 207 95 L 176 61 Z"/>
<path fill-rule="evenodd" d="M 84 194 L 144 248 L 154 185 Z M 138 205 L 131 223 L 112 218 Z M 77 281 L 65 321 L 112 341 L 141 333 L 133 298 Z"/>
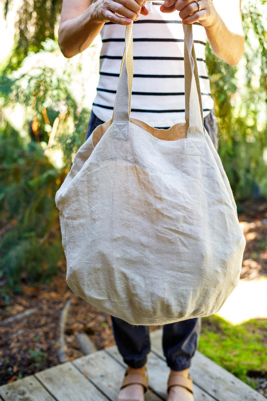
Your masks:
<path fill-rule="evenodd" d="M 107 348 L 106 351 L 113 355 L 118 361 L 123 365 L 123 359 L 118 352 L 116 346 Z M 150 353 L 147 360 L 147 370 L 149 378 L 149 387 L 162 399 L 167 399 L 167 381 L 169 376 L 169 367 L 166 365 L 165 361 L 158 357 L 155 353 Z M 199 388 L 197 385 L 193 384 L 194 397 L 197 401 L 214 401 L 214 398 L 208 395 L 205 391 Z"/>

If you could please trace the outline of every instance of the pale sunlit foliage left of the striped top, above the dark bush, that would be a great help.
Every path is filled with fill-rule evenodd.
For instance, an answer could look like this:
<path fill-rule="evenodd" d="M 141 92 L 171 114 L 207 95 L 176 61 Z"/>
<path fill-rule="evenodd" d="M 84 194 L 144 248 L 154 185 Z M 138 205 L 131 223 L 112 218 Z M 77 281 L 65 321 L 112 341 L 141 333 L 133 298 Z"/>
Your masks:
<path fill-rule="evenodd" d="M 0 101 L 3 110 L 23 107 L 25 130 L 30 126 L 32 139 L 43 142 L 47 154 L 51 148 L 63 150 L 61 167 L 69 168 L 84 141 L 90 116 L 71 89 L 74 74 L 81 67 L 66 61 L 54 41 L 47 40 L 43 47 L 46 50 L 30 53 L 20 69 L 2 75 Z"/>

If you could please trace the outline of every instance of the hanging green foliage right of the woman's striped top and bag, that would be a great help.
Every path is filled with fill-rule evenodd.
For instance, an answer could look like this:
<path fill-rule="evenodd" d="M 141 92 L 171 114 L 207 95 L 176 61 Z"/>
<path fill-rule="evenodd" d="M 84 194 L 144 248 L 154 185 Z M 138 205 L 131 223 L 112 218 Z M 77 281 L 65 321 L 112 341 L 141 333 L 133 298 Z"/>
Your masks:
<path fill-rule="evenodd" d="M 236 199 L 267 195 L 267 41 L 260 0 L 242 2 L 245 54 L 237 67 L 207 49 L 219 154 Z"/>

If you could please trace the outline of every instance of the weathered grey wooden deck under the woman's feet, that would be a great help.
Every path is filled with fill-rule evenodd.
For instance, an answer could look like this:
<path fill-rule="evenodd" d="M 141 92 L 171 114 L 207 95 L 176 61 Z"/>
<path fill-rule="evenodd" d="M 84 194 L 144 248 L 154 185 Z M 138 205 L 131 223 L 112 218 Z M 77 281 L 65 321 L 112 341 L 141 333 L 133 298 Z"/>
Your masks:
<path fill-rule="evenodd" d="M 151 333 L 146 401 L 166 400 L 169 369 L 161 348 L 161 330 Z M 0 387 L 4 401 L 116 401 L 125 364 L 111 347 L 43 370 Z M 195 401 L 266 401 L 262 395 L 199 352 L 191 375 Z"/>

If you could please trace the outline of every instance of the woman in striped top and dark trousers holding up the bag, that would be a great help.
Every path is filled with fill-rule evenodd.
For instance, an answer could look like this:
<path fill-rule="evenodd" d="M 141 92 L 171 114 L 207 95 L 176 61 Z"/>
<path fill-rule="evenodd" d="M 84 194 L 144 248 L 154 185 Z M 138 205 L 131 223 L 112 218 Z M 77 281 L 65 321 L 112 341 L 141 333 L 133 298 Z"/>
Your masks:
<path fill-rule="evenodd" d="M 177 13 L 178 11 L 179 13 Z M 171 16 L 169 16 L 170 13 Z M 204 125 L 217 147 L 216 120 L 205 67 L 205 42 L 230 65 L 244 50 L 240 0 L 63 0 L 59 45 L 66 57 L 85 50 L 101 32 L 100 81 L 87 137 L 112 117 L 124 26 L 133 25 L 134 79 L 131 116 L 157 128 L 184 121 L 183 24 L 193 23 L 200 75 Z M 127 363 L 118 401 L 143 401 L 147 389 L 149 328 L 112 317 L 115 340 Z M 193 401 L 191 358 L 197 347 L 200 320 L 165 325 L 163 350 L 170 367 L 168 401 Z"/>

